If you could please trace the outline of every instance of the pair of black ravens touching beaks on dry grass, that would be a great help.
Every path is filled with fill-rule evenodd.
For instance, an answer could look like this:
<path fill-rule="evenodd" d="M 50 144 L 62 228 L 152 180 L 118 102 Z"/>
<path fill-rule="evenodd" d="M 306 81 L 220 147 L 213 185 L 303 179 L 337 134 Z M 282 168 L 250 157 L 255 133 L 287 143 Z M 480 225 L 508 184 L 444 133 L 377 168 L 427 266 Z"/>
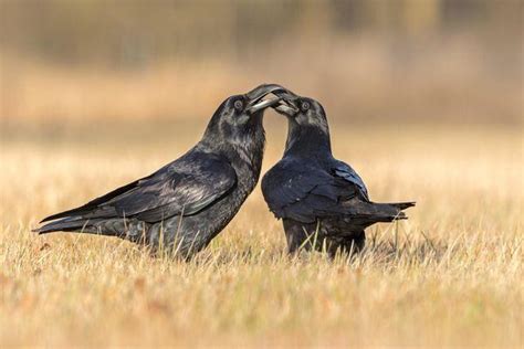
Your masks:
<path fill-rule="evenodd" d="M 265 98 L 270 94 L 274 97 Z M 48 216 L 35 231 L 112 235 L 192 256 L 226 228 L 256 186 L 268 107 L 289 120 L 284 157 L 262 179 L 262 191 L 283 221 L 290 252 L 359 251 L 367 226 L 406 218 L 402 210 L 415 202 L 371 202 L 355 170 L 333 157 L 326 114 L 317 101 L 265 84 L 227 98 L 202 139 L 179 159 Z"/>

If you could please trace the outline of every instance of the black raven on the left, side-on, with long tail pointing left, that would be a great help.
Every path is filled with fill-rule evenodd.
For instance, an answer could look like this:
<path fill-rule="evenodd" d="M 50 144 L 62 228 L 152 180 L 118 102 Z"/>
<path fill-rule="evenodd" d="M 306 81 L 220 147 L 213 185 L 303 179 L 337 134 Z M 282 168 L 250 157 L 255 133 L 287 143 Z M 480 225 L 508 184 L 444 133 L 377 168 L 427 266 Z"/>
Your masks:
<path fill-rule="evenodd" d="M 190 257 L 231 221 L 255 187 L 265 136 L 263 99 L 279 85 L 227 98 L 201 140 L 155 173 L 86 204 L 53 214 L 35 230 L 112 235 Z"/>

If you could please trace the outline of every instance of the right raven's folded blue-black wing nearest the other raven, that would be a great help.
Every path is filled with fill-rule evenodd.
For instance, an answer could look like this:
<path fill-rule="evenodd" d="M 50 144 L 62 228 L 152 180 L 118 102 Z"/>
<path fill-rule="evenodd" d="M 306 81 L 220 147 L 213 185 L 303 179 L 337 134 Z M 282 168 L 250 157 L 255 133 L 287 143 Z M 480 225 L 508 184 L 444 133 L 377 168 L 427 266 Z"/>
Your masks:
<path fill-rule="evenodd" d="M 262 181 L 270 210 L 279 219 L 312 223 L 317 218 L 344 213 L 340 199 L 356 195 L 355 186 L 314 166 L 283 160 Z"/>

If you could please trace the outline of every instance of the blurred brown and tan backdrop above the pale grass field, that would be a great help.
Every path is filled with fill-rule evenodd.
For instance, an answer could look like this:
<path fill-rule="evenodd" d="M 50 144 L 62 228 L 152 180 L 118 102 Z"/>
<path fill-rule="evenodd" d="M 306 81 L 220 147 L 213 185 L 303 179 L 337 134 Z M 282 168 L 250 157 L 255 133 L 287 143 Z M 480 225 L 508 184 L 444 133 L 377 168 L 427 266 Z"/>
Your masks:
<path fill-rule="evenodd" d="M 223 98 L 263 82 L 314 96 L 337 125 L 522 123 L 522 1 L 0 7 L 4 139 L 202 128 Z"/>

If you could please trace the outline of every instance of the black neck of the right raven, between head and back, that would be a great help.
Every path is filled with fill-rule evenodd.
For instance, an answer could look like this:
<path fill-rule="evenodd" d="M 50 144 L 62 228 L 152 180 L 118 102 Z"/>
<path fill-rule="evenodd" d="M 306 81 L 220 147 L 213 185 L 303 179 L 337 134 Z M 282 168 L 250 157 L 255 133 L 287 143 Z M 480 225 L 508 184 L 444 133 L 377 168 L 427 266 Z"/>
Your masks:
<path fill-rule="evenodd" d="M 316 126 L 300 126 L 290 123 L 284 156 L 325 156 L 326 154 L 332 154 L 328 131 Z"/>

